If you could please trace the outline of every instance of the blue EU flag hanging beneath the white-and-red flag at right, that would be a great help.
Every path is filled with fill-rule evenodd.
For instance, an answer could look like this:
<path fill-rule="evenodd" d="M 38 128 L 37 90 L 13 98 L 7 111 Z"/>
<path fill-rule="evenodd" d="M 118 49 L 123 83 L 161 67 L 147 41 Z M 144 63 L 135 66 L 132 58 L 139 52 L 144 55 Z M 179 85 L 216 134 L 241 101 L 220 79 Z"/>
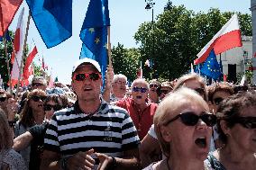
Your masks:
<path fill-rule="evenodd" d="M 203 67 L 201 68 L 201 73 L 213 78 L 214 80 L 217 80 L 221 76 L 221 67 L 217 61 L 214 49 L 210 52 Z"/>

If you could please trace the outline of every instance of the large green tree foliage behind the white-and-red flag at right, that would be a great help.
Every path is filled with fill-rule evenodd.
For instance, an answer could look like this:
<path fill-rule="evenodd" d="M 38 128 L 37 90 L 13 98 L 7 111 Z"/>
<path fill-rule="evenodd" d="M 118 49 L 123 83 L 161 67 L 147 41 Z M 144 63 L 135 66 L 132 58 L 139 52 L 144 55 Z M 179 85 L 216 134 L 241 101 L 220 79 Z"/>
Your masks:
<path fill-rule="evenodd" d="M 188 72 L 197 53 L 232 15 L 215 8 L 207 13 L 194 13 L 184 5 L 167 5 L 153 24 L 143 22 L 135 33 L 134 39 L 140 44 L 140 59 L 143 63 L 151 59 L 151 75 L 169 80 L 177 78 Z M 242 35 L 251 36 L 251 15 L 238 13 L 238 16 Z"/>

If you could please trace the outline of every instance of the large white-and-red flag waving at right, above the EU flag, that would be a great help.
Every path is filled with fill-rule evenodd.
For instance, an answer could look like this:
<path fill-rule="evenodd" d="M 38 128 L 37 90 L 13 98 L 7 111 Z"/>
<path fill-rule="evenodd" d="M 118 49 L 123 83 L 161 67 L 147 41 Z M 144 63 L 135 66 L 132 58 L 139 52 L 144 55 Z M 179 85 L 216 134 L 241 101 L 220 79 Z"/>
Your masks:
<path fill-rule="evenodd" d="M 194 63 L 203 63 L 212 49 L 215 49 L 215 55 L 218 55 L 228 49 L 241 46 L 242 40 L 238 17 L 237 14 L 233 14 L 232 18 L 224 24 L 222 29 L 215 34 L 214 38 L 197 54 L 197 59 L 194 60 Z"/>

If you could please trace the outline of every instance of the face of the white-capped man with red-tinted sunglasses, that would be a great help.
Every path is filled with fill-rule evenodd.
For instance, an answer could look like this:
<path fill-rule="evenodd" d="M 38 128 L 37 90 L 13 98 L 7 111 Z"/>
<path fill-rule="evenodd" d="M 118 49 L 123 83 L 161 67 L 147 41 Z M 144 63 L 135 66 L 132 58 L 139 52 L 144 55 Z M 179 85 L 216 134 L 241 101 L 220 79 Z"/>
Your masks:
<path fill-rule="evenodd" d="M 71 85 L 78 100 L 96 101 L 102 85 L 101 75 L 92 65 L 81 65 L 73 74 Z"/>

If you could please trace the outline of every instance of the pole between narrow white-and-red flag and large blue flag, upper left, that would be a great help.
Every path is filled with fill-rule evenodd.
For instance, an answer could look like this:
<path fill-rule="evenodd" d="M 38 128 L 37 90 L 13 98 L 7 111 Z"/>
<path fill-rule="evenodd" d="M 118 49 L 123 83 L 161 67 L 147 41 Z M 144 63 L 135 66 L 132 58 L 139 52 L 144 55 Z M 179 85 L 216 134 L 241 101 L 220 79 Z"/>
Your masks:
<path fill-rule="evenodd" d="M 27 39 L 28 39 L 28 32 L 29 32 L 31 16 L 32 16 L 31 11 L 29 11 L 27 27 L 26 27 L 26 32 L 25 32 L 25 40 L 24 40 L 24 43 L 23 43 L 23 58 L 21 60 L 21 66 L 19 67 L 20 72 L 19 72 L 18 85 L 17 85 L 16 95 L 15 95 L 15 101 L 17 101 L 17 96 L 18 96 L 17 94 L 19 93 L 21 76 L 23 75 L 23 60 L 25 58 L 25 49 L 26 49 L 26 43 L 27 43 Z"/>

